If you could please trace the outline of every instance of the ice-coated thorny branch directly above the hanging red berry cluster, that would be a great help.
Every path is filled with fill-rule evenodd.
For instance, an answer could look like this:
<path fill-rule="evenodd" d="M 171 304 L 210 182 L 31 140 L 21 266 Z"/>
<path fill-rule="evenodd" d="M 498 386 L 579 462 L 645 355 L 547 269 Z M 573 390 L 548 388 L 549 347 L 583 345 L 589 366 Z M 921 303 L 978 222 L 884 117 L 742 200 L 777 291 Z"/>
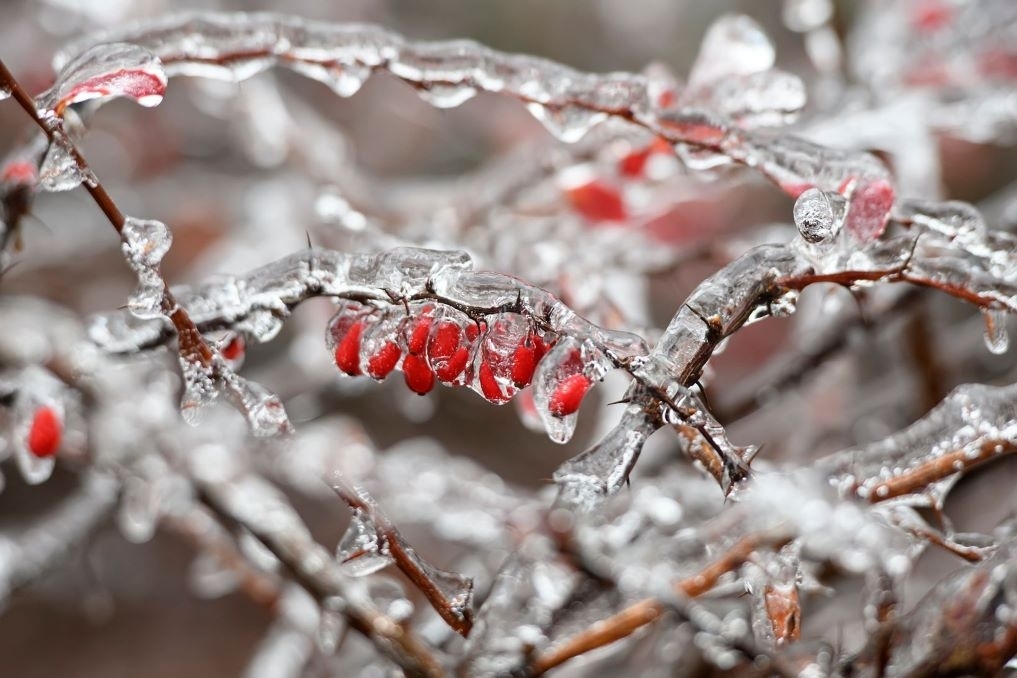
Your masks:
<path fill-rule="evenodd" d="M 602 329 L 549 292 L 519 279 L 476 271 L 469 255 L 458 251 L 401 247 L 380 254 L 346 254 L 313 248 L 245 275 L 178 288 L 178 296 L 199 331 L 232 329 L 258 342 L 273 338 L 300 303 L 332 297 L 377 307 L 435 302 L 478 322 L 517 313 L 547 331 L 594 342 L 618 367 L 646 353 L 639 336 Z M 171 338 L 165 322 L 139 321 L 126 313 L 101 316 L 89 333 L 114 353 L 149 349 Z"/>

